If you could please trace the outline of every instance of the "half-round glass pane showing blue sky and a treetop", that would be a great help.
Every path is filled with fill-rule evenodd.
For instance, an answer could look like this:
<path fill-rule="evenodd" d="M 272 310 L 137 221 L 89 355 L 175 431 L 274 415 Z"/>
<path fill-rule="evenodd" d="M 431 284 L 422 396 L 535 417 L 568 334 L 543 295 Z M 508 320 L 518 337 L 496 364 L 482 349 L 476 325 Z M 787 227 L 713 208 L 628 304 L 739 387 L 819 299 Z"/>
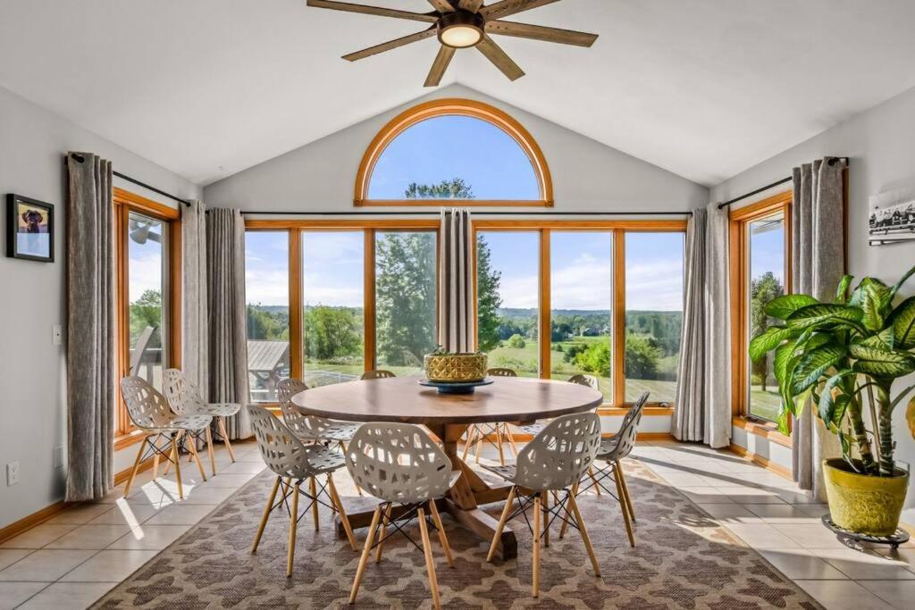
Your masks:
<path fill-rule="evenodd" d="M 531 160 L 500 127 L 436 116 L 408 127 L 372 170 L 370 199 L 539 199 Z"/>

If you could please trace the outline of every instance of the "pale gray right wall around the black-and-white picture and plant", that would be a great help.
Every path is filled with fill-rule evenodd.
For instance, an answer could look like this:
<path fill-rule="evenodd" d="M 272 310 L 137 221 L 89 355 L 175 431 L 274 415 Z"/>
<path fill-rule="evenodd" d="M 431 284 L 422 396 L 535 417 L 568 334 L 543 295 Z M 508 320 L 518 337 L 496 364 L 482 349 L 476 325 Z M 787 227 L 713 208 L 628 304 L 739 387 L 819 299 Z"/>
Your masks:
<path fill-rule="evenodd" d="M 915 265 L 915 241 L 887 246 L 867 244 L 867 199 L 887 190 L 915 187 L 915 89 L 862 112 L 845 123 L 749 168 L 712 189 L 712 198 L 726 201 L 791 175 L 791 167 L 826 155 L 851 157 L 849 166 L 848 273 L 874 275 L 888 284 Z M 790 187 L 785 185 L 784 189 Z M 779 188 L 741 205 L 764 198 Z M 915 294 L 915 281 L 901 293 Z M 897 381 L 897 390 L 915 383 L 915 376 Z M 915 441 L 905 423 L 904 405 L 894 413 L 897 458 L 915 463 Z M 736 437 L 737 438 L 737 437 Z M 787 466 L 791 466 L 790 456 Z M 915 493 L 910 487 L 903 519 L 915 523 Z"/>

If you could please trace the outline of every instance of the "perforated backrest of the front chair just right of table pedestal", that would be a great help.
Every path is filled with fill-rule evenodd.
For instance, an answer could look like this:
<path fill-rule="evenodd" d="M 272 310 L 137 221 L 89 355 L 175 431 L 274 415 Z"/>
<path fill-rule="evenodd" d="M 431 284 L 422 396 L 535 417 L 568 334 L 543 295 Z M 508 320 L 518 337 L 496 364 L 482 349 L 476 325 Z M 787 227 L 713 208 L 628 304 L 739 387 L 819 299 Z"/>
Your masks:
<path fill-rule="evenodd" d="M 562 415 L 524 445 L 515 482 L 529 489 L 565 489 L 587 473 L 600 446 L 595 412 Z"/>

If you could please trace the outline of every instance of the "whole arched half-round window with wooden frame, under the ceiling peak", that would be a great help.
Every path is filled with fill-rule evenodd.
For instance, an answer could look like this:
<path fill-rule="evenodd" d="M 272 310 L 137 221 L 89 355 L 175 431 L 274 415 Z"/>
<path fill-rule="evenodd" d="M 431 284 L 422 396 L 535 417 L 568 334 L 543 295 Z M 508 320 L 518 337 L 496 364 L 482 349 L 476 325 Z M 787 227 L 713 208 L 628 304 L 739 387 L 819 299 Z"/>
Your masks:
<path fill-rule="evenodd" d="M 552 206 L 550 170 L 531 134 L 482 102 L 425 102 L 394 117 L 362 157 L 357 206 Z"/>

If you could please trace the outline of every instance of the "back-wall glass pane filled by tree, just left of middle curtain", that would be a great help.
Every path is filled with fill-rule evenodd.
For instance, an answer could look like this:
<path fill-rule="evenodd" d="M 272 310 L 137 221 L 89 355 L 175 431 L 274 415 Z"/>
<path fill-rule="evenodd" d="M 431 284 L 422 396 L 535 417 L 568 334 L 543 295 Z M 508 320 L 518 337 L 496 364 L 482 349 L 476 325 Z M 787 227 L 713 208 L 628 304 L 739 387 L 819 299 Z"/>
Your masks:
<path fill-rule="evenodd" d="M 375 235 L 375 354 L 398 376 L 423 370 L 436 348 L 436 233 Z"/>

